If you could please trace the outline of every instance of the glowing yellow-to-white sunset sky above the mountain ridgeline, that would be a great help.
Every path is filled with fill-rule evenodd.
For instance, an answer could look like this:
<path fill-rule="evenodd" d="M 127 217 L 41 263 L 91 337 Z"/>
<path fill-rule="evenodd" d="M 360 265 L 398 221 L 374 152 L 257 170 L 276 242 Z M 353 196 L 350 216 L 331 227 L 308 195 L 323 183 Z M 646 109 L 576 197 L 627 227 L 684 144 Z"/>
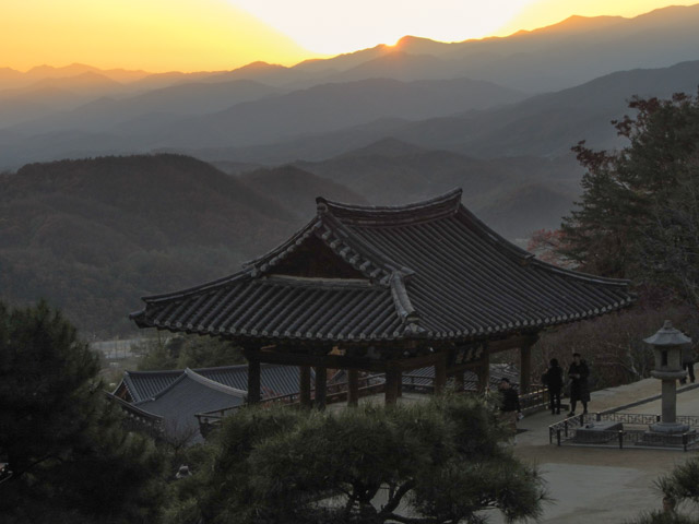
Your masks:
<path fill-rule="evenodd" d="M 0 67 L 197 71 L 393 44 L 503 36 L 572 14 L 635 16 L 662 0 L 2 0 Z"/>

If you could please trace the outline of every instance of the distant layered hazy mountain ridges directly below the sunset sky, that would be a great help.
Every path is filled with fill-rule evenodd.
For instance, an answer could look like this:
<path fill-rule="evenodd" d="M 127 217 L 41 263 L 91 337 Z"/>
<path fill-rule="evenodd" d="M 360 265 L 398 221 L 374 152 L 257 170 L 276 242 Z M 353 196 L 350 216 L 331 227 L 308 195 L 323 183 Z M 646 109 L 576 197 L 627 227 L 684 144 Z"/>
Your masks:
<path fill-rule="evenodd" d="M 573 16 L 503 38 L 445 44 L 405 37 L 395 46 L 293 68 L 254 62 L 234 71 L 161 74 L 81 64 L 26 73 L 1 69 L 0 168 L 163 150 L 206 158 L 214 150 L 215 159 L 266 164 L 321 159 L 342 151 L 319 147 L 313 134 L 332 139 L 328 133 L 353 133 L 357 126 L 368 126 L 360 131 L 366 140 L 344 151 L 394 135 L 476 156 L 561 154 L 571 141 L 594 140 L 587 132 L 601 132 L 592 129 L 593 120 L 621 114 L 625 98 L 635 93 L 694 91 L 691 68 L 685 68 L 684 79 L 679 70 L 667 71 L 673 79 L 654 81 L 645 79 L 650 72 L 608 75 L 656 69 L 662 76 L 666 68 L 698 60 L 696 27 L 699 4 L 635 19 Z M 603 75 L 609 92 L 590 83 Z M 555 92 L 558 96 L 541 95 L 517 109 L 501 107 L 525 93 Z M 583 106 L 583 115 L 576 115 Z M 470 110 L 489 112 L 464 115 Z M 386 119 L 408 122 L 400 132 L 381 134 Z M 498 123 L 508 119 L 514 119 L 513 129 Z M 565 121 L 570 126 L 561 129 Z M 501 142 L 503 131 L 508 143 Z M 608 142 L 608 134 L 601 142 Z M 248 147 L 254 153 L 240 151 Z M 280 148 L 297 153 L 280 155 Z"/>

